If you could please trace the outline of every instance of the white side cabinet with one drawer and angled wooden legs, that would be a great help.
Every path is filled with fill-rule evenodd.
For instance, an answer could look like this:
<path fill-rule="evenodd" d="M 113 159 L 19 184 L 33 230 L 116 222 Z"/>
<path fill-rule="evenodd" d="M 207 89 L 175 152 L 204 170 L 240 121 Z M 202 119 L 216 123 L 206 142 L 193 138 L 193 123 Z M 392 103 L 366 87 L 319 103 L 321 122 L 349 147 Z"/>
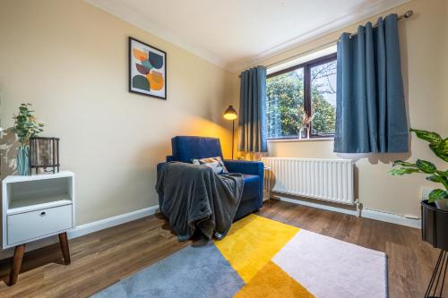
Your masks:
<path fill-rule="evenodd" d="M 3 248 L 15 247 L 9 285 L 15 284 L 25 244 L 59 235 L 65 264 L 70 263 L 66 231 L 74 227 L 74 174 L 19 176 L 2 182 Z"/>

